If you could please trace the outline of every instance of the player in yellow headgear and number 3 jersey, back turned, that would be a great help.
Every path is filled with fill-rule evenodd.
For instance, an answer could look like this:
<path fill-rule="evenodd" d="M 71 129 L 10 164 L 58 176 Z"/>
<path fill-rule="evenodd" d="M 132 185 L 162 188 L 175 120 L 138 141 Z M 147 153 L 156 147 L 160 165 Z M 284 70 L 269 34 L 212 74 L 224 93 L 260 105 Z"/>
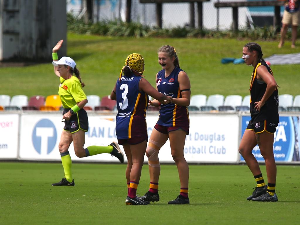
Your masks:
<path fill-rule="evenodd" d="M 128 55 L 110 95 L 111 99 L 117 101 L 116 134 L 119 145 L 123 145 L 128 161 L 126 168 L 128 196 L 125 201 L 127 205 L 149 204 L 136 197 L 148 142 L 146 125 L 148 94 L 158 99 L 161 104 L 172 101 L 172 97 L 159 93 L 142 77 L 144 65 L 142 55 L 137 53 Z"/>

